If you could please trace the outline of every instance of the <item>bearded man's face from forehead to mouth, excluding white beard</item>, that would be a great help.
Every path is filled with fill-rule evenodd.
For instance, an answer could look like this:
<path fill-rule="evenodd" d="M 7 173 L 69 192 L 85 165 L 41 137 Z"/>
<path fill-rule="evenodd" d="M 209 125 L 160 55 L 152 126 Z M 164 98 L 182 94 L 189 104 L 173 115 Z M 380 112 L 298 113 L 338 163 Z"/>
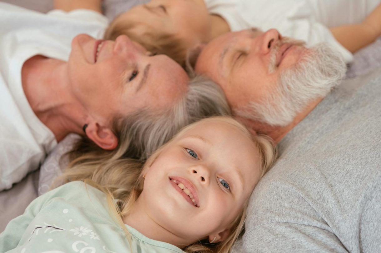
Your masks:
<path fill-rule="evenodd" d="M 275 29 L 226 33 L 203 49 L 195 70 L 221 85 L 233 109 L 246 106 L 269 95 L 280 74 L 308 51 L 299 41 L 281 40 Z"/>

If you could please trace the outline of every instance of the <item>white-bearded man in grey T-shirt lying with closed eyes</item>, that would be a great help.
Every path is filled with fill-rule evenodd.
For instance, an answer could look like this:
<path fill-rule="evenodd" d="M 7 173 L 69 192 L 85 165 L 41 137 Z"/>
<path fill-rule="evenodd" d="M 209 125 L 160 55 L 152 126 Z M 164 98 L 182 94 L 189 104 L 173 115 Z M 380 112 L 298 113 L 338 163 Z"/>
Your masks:
<path fill-rule="evenodd" d="M 380 79 L 337 86 L 336 52 L 274 29 L 216 38 L 195 69 L 253 131 L 279 142 L 237 252 L 381 251 Z"/>

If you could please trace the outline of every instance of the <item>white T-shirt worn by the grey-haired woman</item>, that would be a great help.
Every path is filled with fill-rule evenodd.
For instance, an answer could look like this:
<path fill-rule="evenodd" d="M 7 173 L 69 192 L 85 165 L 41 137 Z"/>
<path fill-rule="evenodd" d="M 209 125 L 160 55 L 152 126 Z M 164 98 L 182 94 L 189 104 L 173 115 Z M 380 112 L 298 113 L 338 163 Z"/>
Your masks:
<path fill-rule="evenodd" d="M 94 11 L 42 14 L 0 2 L 0 190 L 37 169 L 57 144 L 30 108 L 21 84 L 22 65 L 34 55 L 67 60 L 75 35 L 101 38 L 107 24 Z"/>

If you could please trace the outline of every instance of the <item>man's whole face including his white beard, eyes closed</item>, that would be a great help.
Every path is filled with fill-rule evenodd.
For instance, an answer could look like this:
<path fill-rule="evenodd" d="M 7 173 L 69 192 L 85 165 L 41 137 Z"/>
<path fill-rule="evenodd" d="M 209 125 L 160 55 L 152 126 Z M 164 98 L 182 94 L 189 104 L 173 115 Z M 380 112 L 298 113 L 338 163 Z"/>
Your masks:
<path fill-rule="evenodd" d="M 237 116 L 286 126 L 326 96 L 346 70 L 327 44 L 303 44 L 275 29 L 227 33 L 205 47 L 195 70 L 221 85 Z"/>

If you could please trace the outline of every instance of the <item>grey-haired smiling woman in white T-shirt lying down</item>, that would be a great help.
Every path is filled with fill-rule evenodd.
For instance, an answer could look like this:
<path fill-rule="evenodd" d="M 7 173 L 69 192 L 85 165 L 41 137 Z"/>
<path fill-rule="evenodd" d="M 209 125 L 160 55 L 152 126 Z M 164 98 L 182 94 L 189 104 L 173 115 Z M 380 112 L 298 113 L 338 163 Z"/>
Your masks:
<path fill-rule="evenodd" d="M 94 11 L 41 14 L 0 3 L 0 22 L 0 190 L 36 169 L 69 133 L 93 143 L 82 152 L 128 141 L 139 157 L 149 128 L 162 142 L 194 119 L 229 111 L 217 85 L 189 82 L 165 55 L 126 36 L 93 38 L 107 26 Z M 126 138 L 128 128 L 138 141 Z"/>

